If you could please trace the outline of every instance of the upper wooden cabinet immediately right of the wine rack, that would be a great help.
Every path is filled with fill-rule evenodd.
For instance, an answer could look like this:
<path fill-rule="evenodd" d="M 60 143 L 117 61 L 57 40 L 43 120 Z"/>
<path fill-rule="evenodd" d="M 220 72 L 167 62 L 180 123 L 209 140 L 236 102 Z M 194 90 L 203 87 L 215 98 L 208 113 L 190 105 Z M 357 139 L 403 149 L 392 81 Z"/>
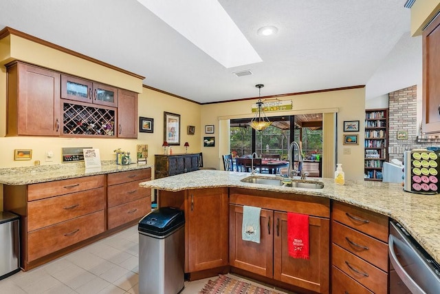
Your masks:
<path fill-rule="evenodd" d="M 137 138 L 137 93 L 118 90 L 118 138 Z"/>

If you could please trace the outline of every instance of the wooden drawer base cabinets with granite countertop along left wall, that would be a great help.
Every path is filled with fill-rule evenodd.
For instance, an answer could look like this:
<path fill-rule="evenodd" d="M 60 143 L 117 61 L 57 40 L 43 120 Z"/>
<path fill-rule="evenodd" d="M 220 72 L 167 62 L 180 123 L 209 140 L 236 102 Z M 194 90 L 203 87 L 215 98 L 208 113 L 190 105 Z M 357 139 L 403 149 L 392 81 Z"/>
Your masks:
<path fill-rule="evenodd" d="M 21 216 L 21 267 L 27 271 L 132 226 L 151 211 L 149 165 L 84 162 L 0 169 L 3 207 Z"/>

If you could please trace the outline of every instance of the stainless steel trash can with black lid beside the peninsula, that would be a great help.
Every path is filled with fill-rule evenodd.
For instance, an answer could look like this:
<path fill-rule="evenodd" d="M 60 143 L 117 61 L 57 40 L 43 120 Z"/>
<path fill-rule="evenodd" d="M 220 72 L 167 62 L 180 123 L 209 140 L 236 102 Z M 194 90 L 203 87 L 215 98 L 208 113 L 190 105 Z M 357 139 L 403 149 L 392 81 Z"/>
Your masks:
<path fill-rule="evenodd" d="M 184 288 L 184 211 L 161 207 L 138 224 L 139 293 L 177 294 Z"/>

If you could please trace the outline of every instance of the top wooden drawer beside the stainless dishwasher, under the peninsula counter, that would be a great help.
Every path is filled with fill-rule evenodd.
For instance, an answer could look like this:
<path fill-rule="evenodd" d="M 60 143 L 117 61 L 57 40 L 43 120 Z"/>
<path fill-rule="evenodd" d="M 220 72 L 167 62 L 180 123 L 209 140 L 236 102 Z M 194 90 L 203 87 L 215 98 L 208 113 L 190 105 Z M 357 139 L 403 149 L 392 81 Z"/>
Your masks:
<path fill-rule="evenodd" d="M 388 217 L 349 204 L 333 202 L 333 220 L 388 243 Z"/>

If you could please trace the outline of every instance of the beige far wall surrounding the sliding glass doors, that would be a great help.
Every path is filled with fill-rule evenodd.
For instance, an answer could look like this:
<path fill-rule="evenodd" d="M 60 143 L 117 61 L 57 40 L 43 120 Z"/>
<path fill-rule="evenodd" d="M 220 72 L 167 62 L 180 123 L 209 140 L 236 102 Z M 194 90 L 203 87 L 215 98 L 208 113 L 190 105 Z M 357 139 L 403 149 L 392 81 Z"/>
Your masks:
<path fill-rule="evenodd" d="M 365 88 L 339 90 L 333 92 L 320 92 L 314 94 L 302 94 L 294 96 L 285 96 L 281 100 L 291 100 L 294 104 L 294 110 L 282 112 L 282 114 L 305 114 L 316 112 L 333 112 L 338 113 L 338 138 L 337 154 L 338 162 L 342 163 L 347 179 L 362 180 L 364 178 L 364 118 L 365 118 Z M 201 147 L 206 166 L 223 169 L 221 164 L 221 154 L 228 151 L 228 142 L 224 142 L 228 132 L 228 124 L 223 120 L 229 118 L 251 118 L 251 104 L 256 101 L 234 101 L 229 103 L 216 103 L 201 106 L 201 125 L 214 125 L 215 129 L 215 147 Z M 319 109 L 319 110 L 318 110 Z M 322 110 L 324 109 L 324 110 Z M 277 113 L 278 115 L 280 113 Z M 333 116 L 326 116 L 325 123 L 332 124 Z M 359 145 L 342 145 L 342 122 L 344 120 L 360 120 L 360 132 L 349 133 L 359 135 Z M 210 136 L 203 134 L 203 136 Z M 202 139 L 203 139 L 202 136 Z M 331 145 L 331 142 L 327 142 Z M 328 148 L 325 145 L 324 148 Z M 350 154 L 344 154 L 343 151 Z M 335 152 L 333 147 L 333 152 Z M 336 166 L 333 165 L 334 168 Z M 333 167 L 325 167 L 334 170 Z M 330 176 L 327 174 L 327 176 Z M 333 175 L 331 175 L 333 178 Z"/>

